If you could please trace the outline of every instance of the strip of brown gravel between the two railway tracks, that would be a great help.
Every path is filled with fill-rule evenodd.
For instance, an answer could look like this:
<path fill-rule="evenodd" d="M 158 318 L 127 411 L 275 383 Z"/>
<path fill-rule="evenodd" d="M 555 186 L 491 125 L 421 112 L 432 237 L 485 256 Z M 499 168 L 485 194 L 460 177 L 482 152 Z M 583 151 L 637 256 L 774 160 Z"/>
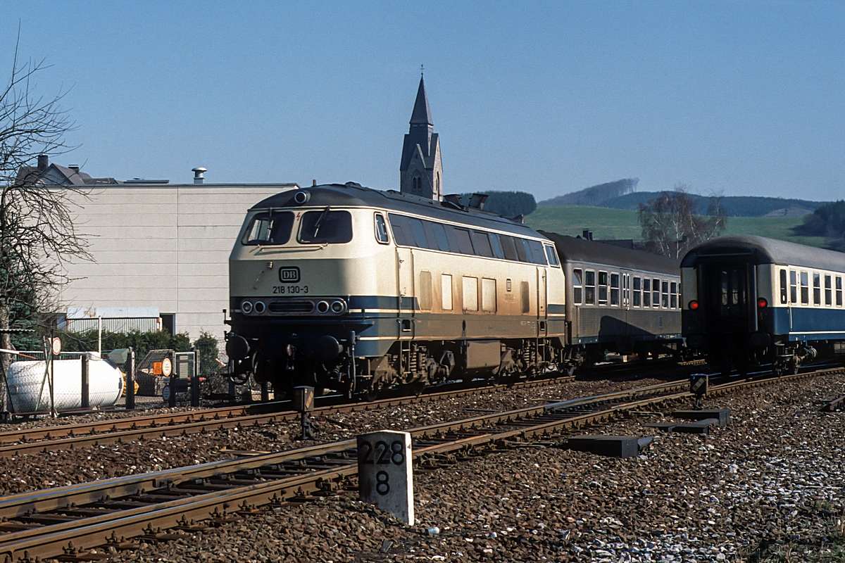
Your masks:
<path fill-rule="evenodd" d="M 230 459 L 232 453 L 226 450 L 267 452 L 291 449 L 352 438 L 371 430 L 432 425 L 445 420 L 470 418 L 482 412 L 518 409 L 658 382 L 654 379 L 559 382 L 530 389 L 505 389 L 495 395 L 434 399 L 356 413 L 319 414 L 313 417 L 313 422 L 319 426 L 313 441 L 299 441 L 301 429 L 298 422 L 287 422 L 3 457 L 0 458 L 0 495 Z M 86 416 L 74 418 L 79 419 L 77 421 L 101 420 L 107 414 Z"/>

